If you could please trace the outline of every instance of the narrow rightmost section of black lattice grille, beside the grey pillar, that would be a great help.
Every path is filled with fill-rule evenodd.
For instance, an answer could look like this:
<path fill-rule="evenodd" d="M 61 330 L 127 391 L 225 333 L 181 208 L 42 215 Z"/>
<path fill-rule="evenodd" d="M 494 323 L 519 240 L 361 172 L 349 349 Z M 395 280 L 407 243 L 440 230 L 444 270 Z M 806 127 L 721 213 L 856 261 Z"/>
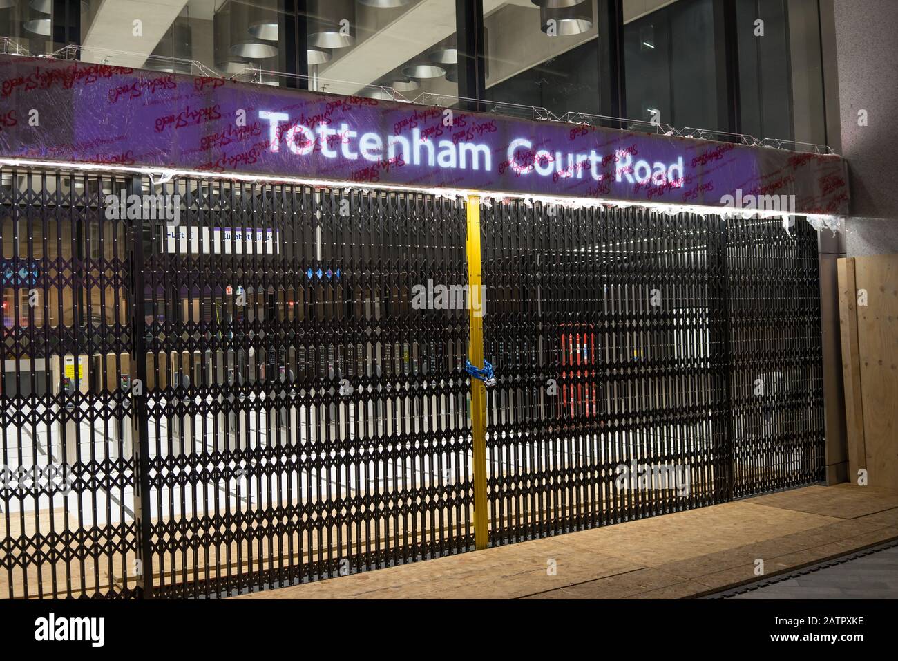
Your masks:
<path fill-rule="evenodd" d="M 726 229 L 734 496 L 825 478 L 817 235 L 801 220 Z"/>

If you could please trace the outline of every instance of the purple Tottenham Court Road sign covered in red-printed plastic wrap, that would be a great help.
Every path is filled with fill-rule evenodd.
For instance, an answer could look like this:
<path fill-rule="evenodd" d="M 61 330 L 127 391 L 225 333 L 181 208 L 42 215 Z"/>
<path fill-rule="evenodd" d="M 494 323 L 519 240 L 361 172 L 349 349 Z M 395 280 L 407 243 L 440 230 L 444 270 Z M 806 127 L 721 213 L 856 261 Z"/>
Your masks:
<path fill-rule="evenodd" d="M 745 147 L 222 78 L 0 56 L 6 157 L 215 173 L 848 212 L 841 156 Z"/>

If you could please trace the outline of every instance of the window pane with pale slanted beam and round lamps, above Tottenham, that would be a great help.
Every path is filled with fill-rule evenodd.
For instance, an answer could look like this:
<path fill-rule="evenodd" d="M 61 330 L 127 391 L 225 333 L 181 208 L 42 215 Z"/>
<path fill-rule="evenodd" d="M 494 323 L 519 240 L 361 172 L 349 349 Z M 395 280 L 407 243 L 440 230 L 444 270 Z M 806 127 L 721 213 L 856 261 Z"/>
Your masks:
<path fill-rule="evenodd" d="M 304 18 L 311 89 L 458 96 L 455 0 L 309 0 Z"/>

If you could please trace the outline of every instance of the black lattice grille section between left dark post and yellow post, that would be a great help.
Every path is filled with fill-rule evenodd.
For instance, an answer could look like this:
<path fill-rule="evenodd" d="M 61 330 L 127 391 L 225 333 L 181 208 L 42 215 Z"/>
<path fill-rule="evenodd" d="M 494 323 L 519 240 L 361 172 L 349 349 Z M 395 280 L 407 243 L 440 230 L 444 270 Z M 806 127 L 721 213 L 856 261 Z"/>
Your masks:
<path fill-rule="evenodd" d="M 471 548 L 468 318 L 412 307 L 427 280 L 467 280 L 462 203 L 197 180 L 164 192 L 180 224 L 148 223 L 136 283 L 154 594 Z"/>

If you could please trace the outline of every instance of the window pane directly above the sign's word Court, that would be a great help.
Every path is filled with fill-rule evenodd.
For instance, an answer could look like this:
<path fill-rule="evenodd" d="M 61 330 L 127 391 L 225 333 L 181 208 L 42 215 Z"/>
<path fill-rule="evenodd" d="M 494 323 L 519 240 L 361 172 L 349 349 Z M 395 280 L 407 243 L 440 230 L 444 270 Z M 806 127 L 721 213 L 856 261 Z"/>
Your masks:
<path fill-rule="evenodd" d="M 595 0 L 562 9 L 485 0 L 483 13 L 488 101 L 600 114 Z"/>

